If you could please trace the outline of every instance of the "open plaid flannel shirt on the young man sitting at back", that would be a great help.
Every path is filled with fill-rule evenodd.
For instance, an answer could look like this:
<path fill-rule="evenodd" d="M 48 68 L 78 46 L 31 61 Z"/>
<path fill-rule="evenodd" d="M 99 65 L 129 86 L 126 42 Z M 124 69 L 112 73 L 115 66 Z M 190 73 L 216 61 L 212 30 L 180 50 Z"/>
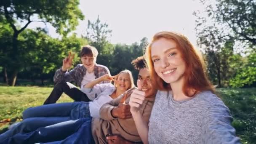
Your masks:
<path fill-rule="evenodd" d="M 86 74 L 86 70 L 87 69 L 83 66 L 83 64 L 78 64 L 74 69 L 67 72 L 63 72 L 60 68 L 56 70 L 53 81 L 55 84 L 61 81 L 75 82 L 76 85 L 81 87 L 81 82 Z M 94 75 L 96 76 L 96 78 L 106 74 L 110 74 L 109 69 L 106 66 L 103 66 L 101 64 L 95 64 Z M 109 81 L 102 81 L 101 83 L 109 83 Z"/>

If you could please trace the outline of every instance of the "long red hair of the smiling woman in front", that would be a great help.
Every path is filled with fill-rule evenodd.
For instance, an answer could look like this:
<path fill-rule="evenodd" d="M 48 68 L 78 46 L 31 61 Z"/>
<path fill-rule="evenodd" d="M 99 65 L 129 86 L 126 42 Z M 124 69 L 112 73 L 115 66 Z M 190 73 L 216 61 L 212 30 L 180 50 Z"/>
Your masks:
<path fill-rule="evenodd" d="M 191 89 L 195 90 L 196 93 L 205 90 L 209 90 L 214 93 L 215 88 L 206 75 L 205 62 L 201 53 L 196 51 L 187 37 L 175 32 L 164 31 L 156 33 L 152 39 L 152 42 L 146 49 L 145 57 L 155 87 L 162 91 L 171 90 L 171 85 L 169 83 L 165 83 L 165 81 L 163 81 L 163 79 L 161 79 L 155 72 L 153 61 L 151 59 L 151 46 L 156 40 L 159 40 L 160 38 L 174 40 L 177 44 L 177 48 L 181 52 L 182 59 L 185 61 L 186 70 L 184 72 L 184 85 L 182 86 L 183 93 L 186 96 L 191 96 L 189 95 L 189 90 Z"/>

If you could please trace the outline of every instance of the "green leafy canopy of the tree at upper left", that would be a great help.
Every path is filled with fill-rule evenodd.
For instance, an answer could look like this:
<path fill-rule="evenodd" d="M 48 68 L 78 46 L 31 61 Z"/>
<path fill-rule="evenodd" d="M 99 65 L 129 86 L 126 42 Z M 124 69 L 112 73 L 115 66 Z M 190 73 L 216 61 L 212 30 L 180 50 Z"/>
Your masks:
<path fill-rule="evenodd" d="M 78 5 L 79 0 L 4 0 L 0 14 L 12 25 L 18 19 L 30 23 L 37 16 L 35 21 L 49 22 L 59 34 L 66 35 L 75 30 L 79 19 L 84 19 Z"/>

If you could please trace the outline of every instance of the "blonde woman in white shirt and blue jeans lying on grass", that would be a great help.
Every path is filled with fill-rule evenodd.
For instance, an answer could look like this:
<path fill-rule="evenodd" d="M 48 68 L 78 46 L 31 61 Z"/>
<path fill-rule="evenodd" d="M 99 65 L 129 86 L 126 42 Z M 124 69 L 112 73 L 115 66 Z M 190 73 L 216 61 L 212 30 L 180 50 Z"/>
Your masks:
<path fill-rule="evenodd" d="M 114 85 L 111 83 L 98 84 L 101 81 L 114 79 L 116 79 Z M 87 83 L 81 89 L 92 101 L 47 104 L 28 108 L 23 112 L 24 120 L 21 123 L 0 135 L 0 143 L 8 141 L 16 133 L 28 133 L 40 127 L 83 117 L 99 117 L 99 109 L 103 104 L 133 87 L 133 77 L 129 70 L 124 70 L 114 77 L 108 74 L 103 75 Z"/>

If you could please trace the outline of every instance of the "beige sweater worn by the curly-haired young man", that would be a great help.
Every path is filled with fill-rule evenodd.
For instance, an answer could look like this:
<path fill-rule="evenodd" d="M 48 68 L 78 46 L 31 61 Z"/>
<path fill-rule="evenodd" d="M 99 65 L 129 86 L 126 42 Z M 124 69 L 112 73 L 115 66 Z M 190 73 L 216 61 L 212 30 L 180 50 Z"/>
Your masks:
<path fill-rule="evenodd" d="M 104 104 L 100 109 L 101 118 L 93 118 L 92 120 L 92 134 L 96 144 L 107 144 L 106 136 L 121 135 L 124 139 L 129 141 L 138 142 L 141 141 L 136 125 L 133 118 L 120 119 L 113 117 L 111 110 L 117 107 L 120 103 L 123 95 L 113 99 L 107 104 Z M 128 104 L 130 96 L 125 99 L 125 103 Z M 139 108 L 144 121 L 149 122 L 150 113 L 155 101 L 155 97 L 146 98 Z"/>

